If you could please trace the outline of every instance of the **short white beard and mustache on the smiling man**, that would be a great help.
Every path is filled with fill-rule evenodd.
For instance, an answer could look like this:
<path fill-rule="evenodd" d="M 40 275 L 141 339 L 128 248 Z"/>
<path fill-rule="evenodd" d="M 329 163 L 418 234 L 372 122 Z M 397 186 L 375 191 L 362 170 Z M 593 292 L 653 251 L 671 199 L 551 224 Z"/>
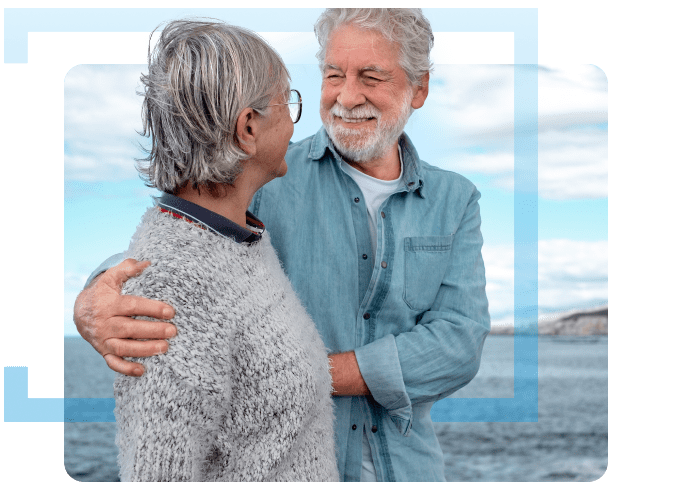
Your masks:
<path fill-rule="evenodd" d="M 335 148 L 345 159 L 358 163 L 370 162 L 384 156 L 401 136 L 409 117 L 413 113 L 412 98 L 413 92 L 408 89 L 402 99 L 399 118 L 394 124 L 383 121 L 380 111 L 372 104 L 366 103 L 347 110 L 336 102 L 330 108 L 326 118 L 323 119 L 323 126 Z M 336 124 L 333 121 L 334 116 L 357 119 L 374 117 L 377 127 L 375 129 L 350 129 Z"/>

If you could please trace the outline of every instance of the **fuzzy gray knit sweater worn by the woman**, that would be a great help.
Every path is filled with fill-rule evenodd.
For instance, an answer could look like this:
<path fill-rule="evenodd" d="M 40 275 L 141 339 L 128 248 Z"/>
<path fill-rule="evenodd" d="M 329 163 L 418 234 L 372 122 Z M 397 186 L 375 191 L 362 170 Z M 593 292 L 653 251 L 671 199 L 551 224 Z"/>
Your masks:
<path fill-rule="evenodd" d="M 268 234 L 248 245 L 148 210 L 124 292 L 176 309 L 166 354 L 119 376 L 122 482 L 337 481 L 323 342 Z"/>

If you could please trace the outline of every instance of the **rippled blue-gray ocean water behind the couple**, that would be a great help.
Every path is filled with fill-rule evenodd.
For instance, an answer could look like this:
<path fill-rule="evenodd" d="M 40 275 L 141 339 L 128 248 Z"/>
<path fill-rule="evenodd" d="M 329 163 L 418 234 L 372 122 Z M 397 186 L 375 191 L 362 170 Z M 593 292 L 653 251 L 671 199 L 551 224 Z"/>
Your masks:
<path fill-rule="evenodd" d="M 112 397 L 114 373 L 80 338 L 64 339 L 64 396 Z M 480 371 L 455 394 L 513 396 L 513 338 L 485 342 Z M 608 467 L 608 338 L 539 338 L 538 422 L 435 424 L 446 479 L 594 481 Z M 114 423 L 65 423 L 64 467 L 81 482 L 117 482 Z"/>

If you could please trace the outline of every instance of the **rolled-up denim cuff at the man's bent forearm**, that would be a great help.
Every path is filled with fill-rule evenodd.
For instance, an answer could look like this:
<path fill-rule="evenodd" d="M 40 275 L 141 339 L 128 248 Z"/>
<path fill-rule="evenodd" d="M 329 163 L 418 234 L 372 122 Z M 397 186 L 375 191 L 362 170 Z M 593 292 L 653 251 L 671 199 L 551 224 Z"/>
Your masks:
<path fill-rule="evenodd" d="M 382 405 L 403 436 L 408 437 L 413 421 L 409 399 L 393 335 L 387 335 L 354 350 L 361 376 L 376 402 Z"/>

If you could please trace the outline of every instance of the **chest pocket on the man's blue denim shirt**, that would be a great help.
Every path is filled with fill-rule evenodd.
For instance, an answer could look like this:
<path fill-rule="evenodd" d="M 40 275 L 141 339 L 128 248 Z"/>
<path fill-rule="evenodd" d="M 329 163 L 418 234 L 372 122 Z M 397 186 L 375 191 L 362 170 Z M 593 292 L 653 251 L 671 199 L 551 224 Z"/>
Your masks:
<path fill-rule="evenodd" d="M 449 266 L 451 236 L 404 238 L 404 302 L 416 311 L 426 311 L 437 297 Z"/>

